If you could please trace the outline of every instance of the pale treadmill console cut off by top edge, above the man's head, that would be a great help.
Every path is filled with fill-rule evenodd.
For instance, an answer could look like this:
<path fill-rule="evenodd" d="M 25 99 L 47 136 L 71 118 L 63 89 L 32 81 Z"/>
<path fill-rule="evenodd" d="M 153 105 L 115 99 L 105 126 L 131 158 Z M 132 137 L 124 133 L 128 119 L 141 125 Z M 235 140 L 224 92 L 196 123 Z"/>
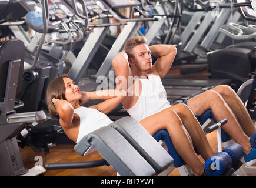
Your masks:
<path fill-rule="evenodd" d="M 104 2 L 111 8 L 127 8 L 141 5 L 138 0 L 104 0 Z"/>

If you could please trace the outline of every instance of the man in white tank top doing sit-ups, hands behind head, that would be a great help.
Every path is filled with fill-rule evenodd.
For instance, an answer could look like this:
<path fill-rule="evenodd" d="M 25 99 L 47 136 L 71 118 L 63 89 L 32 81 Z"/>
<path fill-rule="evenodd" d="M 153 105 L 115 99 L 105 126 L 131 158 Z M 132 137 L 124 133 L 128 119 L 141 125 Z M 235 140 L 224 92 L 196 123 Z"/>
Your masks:
<path fill-rule="evenodd" d="M 117 78 L 121 78 L 119 84 L 122 88 L 127 89 L 130 83 L 133 83 L 131 92 L 122 102 L 129 115 L 140 121 L 161 110 L 174 110 L 190 135 L 196 130 L 185 125 L 189 123 L 189 119 L 186 119 L 187 111 L 184 110 L 183 104 L 171 106 L 165 90 L 162 91 L 164 87 L 159 82 L 159 79 L 163 78 L 171 68 L 176 52 L 174 45 L 148 46 L 144 37 L 135 36 L 125 42 L 124 52 L 119 52 L 115 56 L 112 65 Z M 158 57 L 154 65 L 152 65 L 151 55 Z M 131 76 L 137 78 L 131 82 L 129 80 Z M 158 84 L 155 85 L 155 83 Z M 228 122 L 222 126 L 222 129 L 243 147 L 246 164 L 251 166 L 256 163 L 256 149 L 252 148 L 248 138 L 256 132 L 256 128 L 234 90 L 229 86 L 220 85 L 194 96 L 185 103 L 194 115 L 200 116 L 211 109 L 217 121 L 227 118 Z M 155 121 L 161 121 L 161 119 Z M 200 134 L 201 132 L 198 136 Z M 193 138 L 192 141 L 194 142 Z"/>

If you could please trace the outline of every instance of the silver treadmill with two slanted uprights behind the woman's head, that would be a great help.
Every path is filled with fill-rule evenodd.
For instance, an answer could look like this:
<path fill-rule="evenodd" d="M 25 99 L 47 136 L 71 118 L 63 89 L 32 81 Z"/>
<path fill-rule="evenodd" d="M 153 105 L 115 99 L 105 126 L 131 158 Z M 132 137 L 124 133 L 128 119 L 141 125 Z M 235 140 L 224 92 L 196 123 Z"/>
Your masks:
<path fill-rule="evenodd" d="M 69 0 L 68 0 L 69 1 Z M 69 4 L 71 2 L 69 1 Z M 93 31 L 90 33 L 90 35 L 87 38 L 87 41 L 85 42 L 84 46 L 82 47 L 81 51 L 78 53 L 77 58 L 75 59 L 71 69 L 68 72 L 68 76 L 72 78 L 76 83 L 78 83 L 78 86 L 81 90 L 97 90 L 98 87 L 104 88 L 104 89 L 114 89 L 114 75 L 109 75 L 109 71 L 111 70 L 111 63 L 114 56 L 122 51 L 122 48 L 124 46 L 124 42 L 130 38 L 131 36 L 134 36 L 139 26 L 141 25 L 142 21 L 154 21 L 153 25 L 154 28 L 160 28 L 161 25 L 164 22 L 164 18 L 157 19 L 157 18 L 121 18 L 115 11 L 112 9 L 117 8 L 124 8 L 124 7 L 134 7 L 137 5 L 140 5 L 138 1 L 84 1 L 85 7 L 87 8 L 87 12 L 92 12 L 96 14 L 94 11 L 95 9 L 99 10 L 99 18 L 117 18 L 119 21 L 125 21 L 125 26 L 122 29 L 122 32 L 118 35 L 117 39 L 113 43 L 111 49 L 109 49 L 108 55 L 105 57 L 104 61 L 101 64 L 101 67 L 98 69 L 98 72 L 95 75 L 91 76 L 85 76 L 83 77 L 84 72 L 88 69 L 89 64 L 92 61 L 92 58 L 95 55 L 95 52 L 97 52 L 99 45 L 102 43 L 102 40 L 104 39 L 109 26 L 111 25 L 121 25 L 120 23 L 115 24 L 90 24 L 88 21 L 88 27 L 92 26 L 94 27 Z M 74 6 L 74 5 L 73 5 Z M 84 10 L 79 10 L 84 14 L 84 18 L 88 19 L 88 16 L 85 15 Z M 83 16 L 81 16 L 82 18 Z M 124 24 L 123 24 L 124 25 Z M 156 29 L 151 29 L 150 32 L 148 32 L 148 38 L 154 38 Z M 103 77 L 101 77 L 103 76 Z M 101 83 L 105 79 L 104 83 Z M 86 103 L 86 106 L 91 106 L 92 103 L 95 103 L 98 101 L 91 101 Z"/>

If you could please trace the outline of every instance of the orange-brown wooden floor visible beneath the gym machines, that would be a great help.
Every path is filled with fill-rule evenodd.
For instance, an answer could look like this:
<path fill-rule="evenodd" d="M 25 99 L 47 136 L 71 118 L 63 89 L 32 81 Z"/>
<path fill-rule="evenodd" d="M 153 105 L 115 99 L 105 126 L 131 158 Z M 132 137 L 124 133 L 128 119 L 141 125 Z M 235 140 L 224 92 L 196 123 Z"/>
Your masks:
<path fill-rule="evenodd" d="M 208 134 L 207 139 L 214 152 L 217 153 L 216 131 Z M 98 152 L 92 152 L 87 156 L 80 156 L 73 148 L 74 145 L 58 145 L 52 147 L 50 152 L 46 154 L 46 163 L 84 162 L 102 159 Z M 28 169 L 35 166 L 36 156 L 42 156 L 45 160 L 44 152 L 36 154 L 29 146 L 25 146 L 23 149 L 20 148 L 20 150 L 24 167 Z M 116 176 L 116 172 L 111 166 L 101 166 L 89 169 L 48 170 L 42 176 Z M 172 170 L 169 176 L 180 176 L 178 169 Z"/>

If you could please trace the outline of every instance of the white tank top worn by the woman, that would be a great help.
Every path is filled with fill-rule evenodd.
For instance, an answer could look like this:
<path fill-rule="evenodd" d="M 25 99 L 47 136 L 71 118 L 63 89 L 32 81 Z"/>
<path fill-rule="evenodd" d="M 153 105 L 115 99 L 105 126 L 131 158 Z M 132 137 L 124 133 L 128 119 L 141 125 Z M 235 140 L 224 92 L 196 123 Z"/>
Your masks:
<path fill-rule="evenodd" d="M 101 127 L 108 126 L 110 123 L 112 123 L 112 120 L 109 119 L 109 117 L 105 115 L 105 113 L 99 112 L 99 110 L 94 108 L 87 108 L 81 106 L 74 109 L 74 113 L 76 113 L 80 117 L 80 128 L 77 137 L 77 143 L 85 135 Z"/>

